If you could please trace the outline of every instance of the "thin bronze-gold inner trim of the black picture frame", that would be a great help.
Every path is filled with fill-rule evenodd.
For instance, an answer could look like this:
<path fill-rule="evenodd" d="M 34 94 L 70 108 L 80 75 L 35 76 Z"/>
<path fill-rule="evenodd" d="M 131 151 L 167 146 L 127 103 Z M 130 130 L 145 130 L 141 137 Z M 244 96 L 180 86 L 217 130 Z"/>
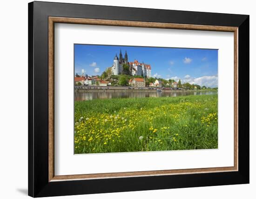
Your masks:
<path fill-rule="evenodd" d="M 143 171 L 143 172 L 116 172 L 116 173 L 95 173 L 80 175 L 54 175 L 54 23 L 69 23 L 98 26 L 122 26 L 122 27 L 149 27 L 149 28 L 167 28 L 182 30 L 204 30 L 204 31 L 222 31 L 234 33 L 234 166 L 197 168 L 197 169 L 175 169 L 161 171 Z M 203 172 L 230 172 L 238 169 L 238 27 L 221 26 L 200 26 L 188 24 L 154 23 L 123 20 L 97 20 L 97 19 L 78 19 L 49 17 L 49 181 L 52 180 L 72 180 L 72 179 L 101 179 L 101 178 L 120 178 L 150 175 L 171 175 L 171 174 L 189 174 Z"/>

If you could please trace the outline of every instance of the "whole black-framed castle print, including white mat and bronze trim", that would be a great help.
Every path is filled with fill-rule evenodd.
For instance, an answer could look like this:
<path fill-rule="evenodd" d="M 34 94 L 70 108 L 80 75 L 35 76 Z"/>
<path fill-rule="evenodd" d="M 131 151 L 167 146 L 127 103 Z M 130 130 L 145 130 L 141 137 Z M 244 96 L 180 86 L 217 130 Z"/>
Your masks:
<path fill-rule="evenodd" d="M 248 15 L 35 1 L 28 24 L 30 196 L 249 183 Z"/>

